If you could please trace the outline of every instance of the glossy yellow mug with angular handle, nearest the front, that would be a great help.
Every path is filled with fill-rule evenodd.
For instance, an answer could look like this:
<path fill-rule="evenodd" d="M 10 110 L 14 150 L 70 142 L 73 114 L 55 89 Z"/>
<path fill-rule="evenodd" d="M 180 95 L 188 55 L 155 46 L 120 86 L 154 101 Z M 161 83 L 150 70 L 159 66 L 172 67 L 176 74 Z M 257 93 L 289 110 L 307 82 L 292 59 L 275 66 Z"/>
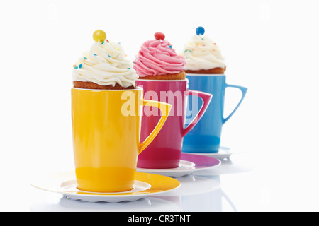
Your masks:
<path fill-rule="evenodd" d="M 155 129 L 140 143 L 142 106 L 162 112 Z M 83 191 L 133 189 L 138 155 L 162 129 L 172 105 L 143 100 L 136 90 L 72 88 L 72 131 L 77 187 Z"/>

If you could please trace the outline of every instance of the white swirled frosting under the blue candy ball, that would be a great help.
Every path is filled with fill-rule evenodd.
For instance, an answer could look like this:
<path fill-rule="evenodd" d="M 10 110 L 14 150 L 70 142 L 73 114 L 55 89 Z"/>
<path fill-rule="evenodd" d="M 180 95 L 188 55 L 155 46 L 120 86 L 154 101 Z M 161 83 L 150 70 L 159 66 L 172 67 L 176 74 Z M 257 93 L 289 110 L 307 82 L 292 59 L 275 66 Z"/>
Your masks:
<path fill-rule="evenodd" d="M 220 47 L 211 38 L 202 35 L 194 35 L 184 45 L 181 55 L 186 58 L 186 70 L 208 70 L 226 66 Z"/>

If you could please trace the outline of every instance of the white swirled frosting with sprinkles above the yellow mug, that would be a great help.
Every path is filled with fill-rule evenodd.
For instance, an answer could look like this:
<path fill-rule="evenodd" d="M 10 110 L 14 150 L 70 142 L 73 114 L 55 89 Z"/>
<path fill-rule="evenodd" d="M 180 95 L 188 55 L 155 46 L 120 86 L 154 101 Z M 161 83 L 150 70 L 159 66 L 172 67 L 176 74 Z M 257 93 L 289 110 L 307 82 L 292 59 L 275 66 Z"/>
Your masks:
<path fill-rule="evenodd" d="M 89 52 L 84 52 L 74 65 L 73 80 L 89 81 L 99 85 L 135 86 L 138 78 L 132 63 L 125 58 L 118 42 L 94 42 Z"/>

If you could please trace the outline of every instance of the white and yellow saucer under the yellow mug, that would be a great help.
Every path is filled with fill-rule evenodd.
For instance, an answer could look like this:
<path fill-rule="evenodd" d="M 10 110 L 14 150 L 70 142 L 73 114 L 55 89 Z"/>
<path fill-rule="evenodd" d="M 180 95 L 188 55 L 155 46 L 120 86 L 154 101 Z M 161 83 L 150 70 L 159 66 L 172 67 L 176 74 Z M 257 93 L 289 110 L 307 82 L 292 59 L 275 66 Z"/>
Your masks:
<path fill-rule="evenodd" d="M 163 194 L 178 189 L 181 183 L 177 179 L 158 174 L 136 172 L 133 189 L 130 191 L 99 193 L 77 189 L 74 172 L 60 172 L 38 177 L 30 182 L 32 186 L 45 191 L 63 194 L 66 198 L 88 202 L 136 201 L 147 196 Z"/>

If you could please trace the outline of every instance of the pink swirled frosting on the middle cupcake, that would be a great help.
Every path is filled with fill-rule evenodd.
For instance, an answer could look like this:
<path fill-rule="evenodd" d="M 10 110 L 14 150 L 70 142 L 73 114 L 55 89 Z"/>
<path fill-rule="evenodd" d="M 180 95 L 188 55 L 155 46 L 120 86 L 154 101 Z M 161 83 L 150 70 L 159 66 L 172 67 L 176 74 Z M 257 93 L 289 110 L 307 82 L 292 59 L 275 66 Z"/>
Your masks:
<path fill-rule="evenodd" d="M 174 74 L 184 71 L 185 58 L 179 56 L 167 40 L 149 40 L 142 44 L 133 68 L 140 77 Z"/>

